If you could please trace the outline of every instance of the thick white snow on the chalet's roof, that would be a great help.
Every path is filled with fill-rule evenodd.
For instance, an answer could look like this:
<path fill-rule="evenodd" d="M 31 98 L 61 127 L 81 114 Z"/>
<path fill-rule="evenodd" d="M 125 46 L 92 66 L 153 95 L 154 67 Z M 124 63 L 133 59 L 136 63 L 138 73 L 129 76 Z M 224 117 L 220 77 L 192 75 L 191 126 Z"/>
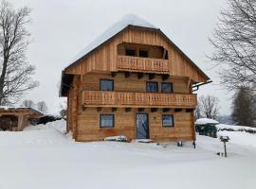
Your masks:
<path fill-rule="evenodd" d="M 139 18 L 137 15 L 127 14 L 123 16 L 119 20 L 119 22 L 106 29 L 100 37 L 98 37 L 92 43 L 89 43 L 84 49 L 82 49 L 82 51 L 73 60 L 71 60 L 68 65 L 72 64 L 77 60 L 80 60 L 84 55 L 88 54 L 89 52 L 97 48 L 99 45 L 101 45 L 101 43 L 105 43 L 106 41 L 108 41 L 110 38 L 115 36 L 117 33 L 119 33 L 122 29 L 124 29 L 127 26 L 141 26 L 158 29 L 158 27 L 150 24 L 142 18 Z"/>

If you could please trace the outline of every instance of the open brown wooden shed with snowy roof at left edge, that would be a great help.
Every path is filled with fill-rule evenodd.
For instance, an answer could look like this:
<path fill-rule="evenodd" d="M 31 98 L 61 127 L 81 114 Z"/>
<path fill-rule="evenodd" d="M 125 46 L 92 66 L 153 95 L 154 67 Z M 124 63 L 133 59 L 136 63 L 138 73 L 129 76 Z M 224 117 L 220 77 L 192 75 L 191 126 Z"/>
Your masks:
<path fill-rule="evenodd" d="M 0 130 L 21 131 L 29 124 L 30 118 L 43 115 L 31 108 L 0 106 Z"/>

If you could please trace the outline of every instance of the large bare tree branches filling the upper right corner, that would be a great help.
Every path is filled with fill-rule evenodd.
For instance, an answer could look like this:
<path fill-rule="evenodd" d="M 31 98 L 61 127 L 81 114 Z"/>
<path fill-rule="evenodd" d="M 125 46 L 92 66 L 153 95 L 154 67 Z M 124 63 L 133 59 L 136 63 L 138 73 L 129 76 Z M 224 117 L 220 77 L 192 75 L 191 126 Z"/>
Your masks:
<path fill-rule="evenodd" d="M 222 83 L 229 89 L 256 82 L 256 1 L 228 0 L 210 43 L 210 57 L 220 66 Z"/>

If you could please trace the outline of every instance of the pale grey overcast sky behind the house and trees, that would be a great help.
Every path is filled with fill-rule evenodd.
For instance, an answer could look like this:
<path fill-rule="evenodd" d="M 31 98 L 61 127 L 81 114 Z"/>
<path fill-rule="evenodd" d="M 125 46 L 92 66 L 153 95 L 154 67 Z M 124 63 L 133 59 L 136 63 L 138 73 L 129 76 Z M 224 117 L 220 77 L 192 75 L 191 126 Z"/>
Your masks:
<path fill-rule="evenodd" d="M 212 84 L 200 87 L 201 94 L 217 96 L 221 113 L 230 113 L 231 94 L 219 86 L 216 69 L 206 59 L 212 48 L 208 41 L 225 0 L 9 0 L 15 7 L 32 9 L 27 59 L 36 66 L 40 87 L 24 98 L 45 100 L 49 112 L 59 112 L 58 85 L 61 72 L 88 43 L 108 26 L 129 13 L 158 26 L 208 76 Z"/>

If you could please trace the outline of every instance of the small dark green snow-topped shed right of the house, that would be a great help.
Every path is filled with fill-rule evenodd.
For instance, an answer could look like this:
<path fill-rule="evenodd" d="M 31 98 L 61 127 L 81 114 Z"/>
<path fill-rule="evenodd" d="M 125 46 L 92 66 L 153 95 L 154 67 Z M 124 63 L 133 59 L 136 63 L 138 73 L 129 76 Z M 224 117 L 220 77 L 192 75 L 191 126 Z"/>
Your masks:
<path fill-rule="evenodd" d="M 216 125 L 219 124 L 214 119 L 200 118 L 195 121 L 195 130 L 199 135 L 210 136 L 217 138 L 217 128 Z"/>

